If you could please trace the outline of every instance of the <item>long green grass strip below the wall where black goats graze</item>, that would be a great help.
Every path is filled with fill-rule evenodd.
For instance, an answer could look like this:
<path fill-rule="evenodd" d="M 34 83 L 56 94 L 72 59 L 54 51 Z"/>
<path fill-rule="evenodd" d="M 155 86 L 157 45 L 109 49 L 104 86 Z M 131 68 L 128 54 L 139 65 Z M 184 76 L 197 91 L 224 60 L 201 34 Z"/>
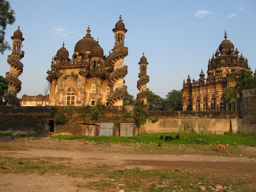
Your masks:
<path fill-rule="evenodd" d="M 175 137 L 180 135 L 179 140 L 167 141 L 159 140 L 160 135 L 167 135 Z M 113 142 L 113 143 L 154 143 L 159 142 L 166 144 L 199 144 L 199 145 L 216 145 L 217 143 L 228 143 L 229 145 L 247 145 L 256 146 L 256 134 L 224 134 L 217 135 L 213 133 L 152 133 L 152 134 L 140 134 L 133 137 L 90 137 L 85 135 L 55 135 L 52 139 L 58 140 L 76 140 L 86 139 L 88 141 L 101 141 L 101 142 Z"/>

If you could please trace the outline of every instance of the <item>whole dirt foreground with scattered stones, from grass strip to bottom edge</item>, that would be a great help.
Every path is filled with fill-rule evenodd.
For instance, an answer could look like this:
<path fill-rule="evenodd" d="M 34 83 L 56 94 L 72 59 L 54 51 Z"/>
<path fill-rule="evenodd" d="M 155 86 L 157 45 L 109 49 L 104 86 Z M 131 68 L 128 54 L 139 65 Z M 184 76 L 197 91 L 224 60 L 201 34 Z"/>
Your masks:
<path fill-rule="evenodd" d="M 22 165 L 20 158 L 23 158 L 23 161 L 45 160 L 49 166 L 61 165 L 66 168 L 47 171 L 43 174 L 31 169 L 17 171 L 18 167 L 14 166 L 15 160 L 9 162 L 11 160 L 8 158 L 19 161 L 17 166 Z M 149 174 L 152 172 L 150 170 L 174 173 L 180 171 L 179 174 L 183 175 L 198 174 L 185 184 L 183 183 L 183 186 L 190 184 L 195 186 L 186 190 L 181 189 L 181 184 L 177 186 L 175 179 L 169 181 L 168 177 L 162 177 L 170 185 L 173 184 L 175 191 L 198 191 L 198 182 L 206 185 L 206 191 L 211 191 L 208 189 L 209 183 L 213 186 L 226 184 L 229 188 L 223 191 L 256 191 L 256 147 L 249 146 L 229 146 L 228 153 L 217 153 L 216 146 L 162 144 L 160 148 L 156 144 L 143 143 L 109 144 L 86 140 L 53 140 L 50 136 L 14 140 L 0 136 L 0 165 L 0 192 L 119 192 L 121 189 L 125 192 L 142 191 L 129 189 L 128 185 L 118 183 L 107 190 L 106 186 L 105 188 L 104 186 L 90 187 L 93 182 L 109 180 L 109 169 L 105 169 L 104 166 L 111 170 L 119 170 L 121 173 L 124 170 L 137 168 L 141 171 L 148 170 Z M 78 170 L 82 170 L 82 173 Z M 89 177 L 92 174 L 97 176 Z M 152 183 L 150 184 L 153 186 Z M 233 186 L 230 183 L 233 183 Z M 100 183 L 96 185 L 100 186 Z M 148 191 L 174 191 L 174 189 L 164 190 L 155 185 L 155 188 Z"/>

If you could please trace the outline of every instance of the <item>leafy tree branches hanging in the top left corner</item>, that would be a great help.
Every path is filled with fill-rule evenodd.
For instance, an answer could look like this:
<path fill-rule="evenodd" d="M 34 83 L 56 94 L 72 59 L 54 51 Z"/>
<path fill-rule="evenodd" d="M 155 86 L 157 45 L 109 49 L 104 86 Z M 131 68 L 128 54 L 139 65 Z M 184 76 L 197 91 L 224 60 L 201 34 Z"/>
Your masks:
<path fill-rule="evenodd" d="M 6 26 L 15 22 L 15 12 L 11 9 L 9 1 L 0 0 L 0 52 L 11 50 L 7 41 L 4 40 Z"/>

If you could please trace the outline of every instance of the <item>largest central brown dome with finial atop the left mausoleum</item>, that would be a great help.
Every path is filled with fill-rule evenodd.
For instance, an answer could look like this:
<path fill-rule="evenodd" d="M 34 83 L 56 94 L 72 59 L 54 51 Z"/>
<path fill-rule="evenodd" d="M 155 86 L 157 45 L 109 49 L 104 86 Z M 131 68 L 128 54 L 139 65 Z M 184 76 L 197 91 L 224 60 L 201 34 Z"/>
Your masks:
<path fill-rule="evenodd" d="M 87 34 L 85 37 L 83 37 L 83 39 L 80 39 L 76 45 L 75 45 L 75 49 L 74 52 L 79 52 L 79 51 L 91 51 L 92 48 L 94 47 L 94 45 L 97 44 L 97 41 L 95 41 L 92 37 L 91 37 L 91 30 L 90 27 L 88 26 L 88 29 L 86 30 Z"/>

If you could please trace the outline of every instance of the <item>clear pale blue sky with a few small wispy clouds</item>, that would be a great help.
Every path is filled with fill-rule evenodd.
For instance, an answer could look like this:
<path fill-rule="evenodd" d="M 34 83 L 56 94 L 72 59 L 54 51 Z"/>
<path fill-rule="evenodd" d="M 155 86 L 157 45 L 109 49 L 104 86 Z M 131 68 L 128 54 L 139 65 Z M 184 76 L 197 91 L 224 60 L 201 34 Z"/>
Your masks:
<path fill-rule="evenodd" d="M 114 45 L 112 29 L 122 15 L 125 28 L 125 57 L 128 74 L 125 85 L 136 96 L 139 60 L 144 51 L 148 59 L 147 87 L 165 98 L 173 89 L 182 88 L 183 79 L 190 74 L 197 80 L 208 60 L 216 51 L 227 30 L 228 39 L 248 59 L 251 69 L 256 66 L 256 1 L 60 1 L 10 0 L 16 22 L 8 26 L 5 40 L 20 25 L 25 40 L 23 73 L 19 77 L 23 94 L 42 94 L 46 71 L 51 58 L 65 42 L 70 58 L 76 42 L 87 32 L 99 38 L 108 55 Z M 0 55 L 0 75 L 9 71 L 7 56 Z"/>

